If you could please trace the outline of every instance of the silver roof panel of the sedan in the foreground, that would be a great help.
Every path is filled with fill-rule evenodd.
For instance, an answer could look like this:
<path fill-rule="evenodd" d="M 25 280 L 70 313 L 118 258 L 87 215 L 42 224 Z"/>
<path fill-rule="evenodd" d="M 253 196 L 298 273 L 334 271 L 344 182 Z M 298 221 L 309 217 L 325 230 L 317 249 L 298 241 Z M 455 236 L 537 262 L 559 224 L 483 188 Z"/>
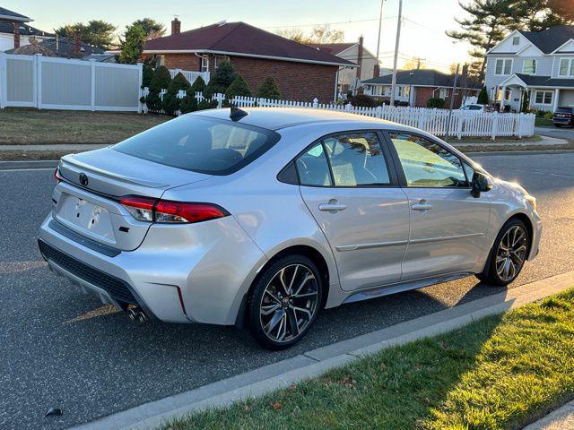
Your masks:
<path fill-rule="evenodd" d="M 373 118 L 372 116 L 350 114 L 328 109 L 305 107 L 241 107 L 241 110 L 247 112 L 248 115 L 238 120 L 240 124 L 254 125 L 267 130 L 280 130 L 297 125 L 319 123 L 357 124 L 358 122 L 373 128 L 387 128 L 389 125 L 396 127 L 395 123 Z M 230 109 L 208 109 L 188 115 L 209 116 L 212 118 L 230 120 Z"/>

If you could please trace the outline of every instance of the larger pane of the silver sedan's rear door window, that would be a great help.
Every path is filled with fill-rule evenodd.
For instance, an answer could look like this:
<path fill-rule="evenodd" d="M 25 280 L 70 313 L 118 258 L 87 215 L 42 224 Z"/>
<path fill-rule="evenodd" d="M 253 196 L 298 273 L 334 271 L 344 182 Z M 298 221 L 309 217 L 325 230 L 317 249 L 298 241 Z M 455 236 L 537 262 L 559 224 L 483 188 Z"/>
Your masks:
<path fill-rule="evenodd" d="M 335 186 L 390 184 L 376 133 L 341 133 L 323 142 Z"/>

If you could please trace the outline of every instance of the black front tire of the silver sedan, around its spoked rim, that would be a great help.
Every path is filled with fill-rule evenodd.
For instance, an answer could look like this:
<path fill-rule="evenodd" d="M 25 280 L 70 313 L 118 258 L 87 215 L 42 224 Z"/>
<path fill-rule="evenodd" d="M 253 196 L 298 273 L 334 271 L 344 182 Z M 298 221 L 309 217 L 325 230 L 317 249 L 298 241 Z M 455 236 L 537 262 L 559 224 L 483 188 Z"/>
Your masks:
<path fill-rule="evenodd" d="M 519 240 L 516 248 L 509 246 L 509 251 L 505 252 L 500 248 L 500 242 L 502 242 L 503 238 L 505 241 L 507 240 L 506 235 L 510 230 L 512 230 L 512 232 L 521 232 L 524 234 L 524 239 Z M 515 239 L 517 239 L 516 236 Z M 509 240 L 511 240 L 510 237 Z M 506 246 L 506 244 L 503 244 L 503 246 Z M 523 246 L 525 246 L 524 250 L 515 251 L 515 249 L 518 250 Z M 529 249 L 530 237 L 528 235 L 528 229 L 526 228 L 525 223 L 520 219 L 509 219 L 509 221 L 507 221 L 502 226 L 502 228 L 500 228 L 499 234 L 496 236 L 494 244 L 492 245 L 488 260 L 484 266 L 484 270 L 481 273 L 476 273 L 476 278 L 492 286 L 506 287 L 509 285 L 509 283 L 516 280 L 520 274 L 520 271 L 522 271 Z M 505 255 L 505 253 L 507 253 L 508 256 Z M 497 259 L 497 257 L 500 257 L 500 259 Z M 501 259 L 505 259 L 504 262 Z M 508 263 L 509 267 L 514 268 L 512 271 L 506 268 L 508 260 L 510 260 Z M 522 262 L 518 263 L 520 260 L 522 260 Z M 502 268 L 501 273 L 500 268 Z"/>

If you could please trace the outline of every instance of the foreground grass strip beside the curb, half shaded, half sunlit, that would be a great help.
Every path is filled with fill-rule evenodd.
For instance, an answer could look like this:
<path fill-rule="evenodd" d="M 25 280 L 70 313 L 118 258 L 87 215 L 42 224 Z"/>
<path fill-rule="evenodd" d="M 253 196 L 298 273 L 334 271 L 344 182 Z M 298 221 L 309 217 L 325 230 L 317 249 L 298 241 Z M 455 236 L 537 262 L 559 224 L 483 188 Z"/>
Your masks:
<path fill-rule="evenodd" d="M 164 429 L 522 428 L 574 397 L 574 289 Z"/>

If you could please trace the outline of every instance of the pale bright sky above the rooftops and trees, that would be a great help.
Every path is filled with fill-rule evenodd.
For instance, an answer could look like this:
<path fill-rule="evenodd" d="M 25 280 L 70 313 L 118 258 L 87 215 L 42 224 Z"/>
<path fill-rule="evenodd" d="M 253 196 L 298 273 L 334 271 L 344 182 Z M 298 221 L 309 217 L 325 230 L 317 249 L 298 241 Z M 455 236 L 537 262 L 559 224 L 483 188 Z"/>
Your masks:
<path fill-rule="evenodd" d="M 404 0 L 403 4 L 406 20 L 399 49 L 401 56 L 421 56 L 427 59 L 429 67 L 439 69 L 448 69 L 448 65 L 455 62 L 465 62 L 468 47 L 463 43 L 454 44 L 444 35 L 445 30 L 457 27 L 454 17 L 461 15 L 457 0 Z M 99 0 L 81 3 L 4 0 L 2 6 L 30 16 L 34 20 L 31 25 L 47 31 L 65 23 L 91 19 L 113 22 L 118 30 L 123 30 L 129 22 L 145 16 L 163 22 L 169 29 L 174 15 L 178 15 L 182 22 L 182 30 L 221 20 L 244 21 L 270 31 L 286 26 L 311 30 L 312 25 L 309 24 L 333 22 L 331 28 L 344 30 L 346 41 L 357 40 L 362 34 L 365 46 L 375 53 L 380 0 Z M 380 48 L 384 66 L 392 65 L 397 13 L 398 0 L 387 0 Z"/>

